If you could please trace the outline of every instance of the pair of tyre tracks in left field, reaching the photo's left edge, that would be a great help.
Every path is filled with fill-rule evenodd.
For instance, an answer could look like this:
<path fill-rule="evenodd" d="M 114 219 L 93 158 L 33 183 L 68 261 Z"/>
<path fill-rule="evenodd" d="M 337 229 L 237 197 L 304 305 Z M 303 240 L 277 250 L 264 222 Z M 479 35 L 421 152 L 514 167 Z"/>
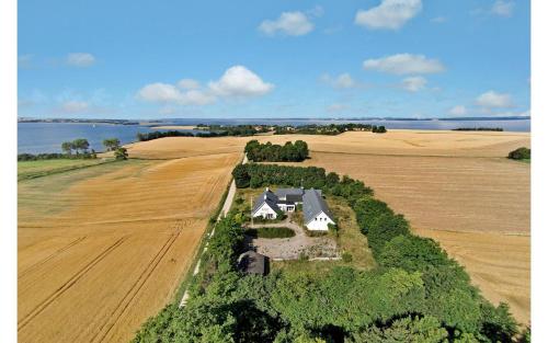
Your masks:
<path fill-rule="evenodd" d="M 82 276 L 84 276 L 89 271 L 91 271 L 95 265 L 98 265 L 102 260 L 104 260 L 111 252 L 113 252 L 116 248 L 122 245 L 127 239 L 127 236 L 122 237 L 117 241 L 115 241 L 112 245 L 103 250 L 99 255 L 96 255 L 91 262 L 85 264 L 80 271 L 78 271 L 75 275 L 72 275 L 65 284 L 62 284 L 59 288 L 57 288 L 52 295 L 49 295 L 46 299 L 39 302 L 33 310 L 31 310 L 25 317 L 23 317 L 18 322 L 18 331 L 23 329 L 26 324 L 28 324 L 36 316 L 42 313 L 52 302 L 54 302 L 58 297 L 60 297 L 65 291 L 70 289 Z"/>

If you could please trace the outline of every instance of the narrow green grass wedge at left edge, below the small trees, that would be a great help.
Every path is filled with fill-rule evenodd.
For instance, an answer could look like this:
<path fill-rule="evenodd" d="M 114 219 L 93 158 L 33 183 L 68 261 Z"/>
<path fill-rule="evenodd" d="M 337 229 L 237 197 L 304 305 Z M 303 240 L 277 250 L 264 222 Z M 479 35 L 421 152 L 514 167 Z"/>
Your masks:
<path fill-rule="evenodd" d="M 19 161 L 18 180 L 34 179 L 69 170 L 110 162 L 112 159 L 55 159 L 39 161 Z"/>

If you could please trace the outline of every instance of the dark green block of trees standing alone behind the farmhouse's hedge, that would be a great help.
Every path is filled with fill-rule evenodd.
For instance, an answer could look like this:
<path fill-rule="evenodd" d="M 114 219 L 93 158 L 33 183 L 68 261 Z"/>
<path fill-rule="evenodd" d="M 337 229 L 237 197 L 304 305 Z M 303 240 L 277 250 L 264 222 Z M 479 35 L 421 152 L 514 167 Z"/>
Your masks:
<path fill-rule="evenodd" d="M 304 140 L 295 144 L 286 141 L 284 146 L 267 141 L 260 144 L 253 139 L 248 141 L 244 151 L 250 161 L 254 162 L 301 162 L 308 158 L 308 145 Z"/>

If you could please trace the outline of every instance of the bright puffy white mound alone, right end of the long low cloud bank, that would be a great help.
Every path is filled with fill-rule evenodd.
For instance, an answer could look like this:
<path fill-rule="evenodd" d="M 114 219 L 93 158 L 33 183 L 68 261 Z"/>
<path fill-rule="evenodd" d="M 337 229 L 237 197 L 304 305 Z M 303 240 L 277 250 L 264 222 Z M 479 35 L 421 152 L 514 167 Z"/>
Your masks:
<path fill-rule="evenodd" d="M 228 68 L 219 80 L 208 85 L 214 94 L 237 98 L 264 95 L 274 88 L 243 66 Z"/>

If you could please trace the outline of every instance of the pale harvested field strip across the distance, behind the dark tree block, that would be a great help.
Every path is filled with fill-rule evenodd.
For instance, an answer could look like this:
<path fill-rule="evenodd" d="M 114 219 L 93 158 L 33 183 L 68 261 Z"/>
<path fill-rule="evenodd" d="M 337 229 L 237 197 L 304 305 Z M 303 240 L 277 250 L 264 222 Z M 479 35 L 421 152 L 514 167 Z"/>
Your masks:
<path fill-rule="evenodd" d="M 302 139 L 316 152 L 353 152 L 390 156 L 501 157 L 529 145 L 525 133 L 390 130 L 387 134 L 350 132 L 339 136 L 272 135 L 254 137 L 168 137 L 128 145 L 132 157 L 181 158 L 241 152 L 246 142 L 284 144 Z"/>

